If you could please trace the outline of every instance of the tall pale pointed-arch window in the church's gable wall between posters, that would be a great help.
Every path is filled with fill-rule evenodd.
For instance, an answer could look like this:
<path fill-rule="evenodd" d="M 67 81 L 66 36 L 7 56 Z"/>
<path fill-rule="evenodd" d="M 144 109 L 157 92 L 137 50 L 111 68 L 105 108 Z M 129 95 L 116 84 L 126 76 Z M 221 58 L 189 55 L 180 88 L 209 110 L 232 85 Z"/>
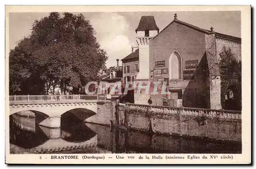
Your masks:
<path fill-rule="evenodd" d="M 169 58 L 169 79 L 181 79 L 181 57 L 177 51 Z"/>

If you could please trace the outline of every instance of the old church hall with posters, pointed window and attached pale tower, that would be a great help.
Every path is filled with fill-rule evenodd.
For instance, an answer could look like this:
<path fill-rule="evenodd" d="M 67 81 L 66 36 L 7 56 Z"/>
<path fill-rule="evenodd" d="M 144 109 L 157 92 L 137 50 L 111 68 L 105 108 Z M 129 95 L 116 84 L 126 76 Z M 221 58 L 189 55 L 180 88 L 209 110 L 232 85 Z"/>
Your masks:
<path fill-rule="evenodd" d="M 178 20 L 176 14 L 157 35 L 147 34 L 148 30 L 159 31 L 154 17 L 143 23 L 141 19 L 138 29 L 145 35 L 136 38 L 143 67 L 136 81 L 166 81 L 167 94 L 142 96 L 142 92 L 135 94 L 135 103 L 146 104 L 140 98 L 152 97 L 153 104 L 168 98 L 172 106 L 230 109 L 227 102 L 240 105 L 241 79 L 236 73 L 227 75 L 230 71 L 220 66 L 220 53 L 225 46 L 241 61 L 241 38 L 214 32 L 212 27 L 201 29 Z"/>

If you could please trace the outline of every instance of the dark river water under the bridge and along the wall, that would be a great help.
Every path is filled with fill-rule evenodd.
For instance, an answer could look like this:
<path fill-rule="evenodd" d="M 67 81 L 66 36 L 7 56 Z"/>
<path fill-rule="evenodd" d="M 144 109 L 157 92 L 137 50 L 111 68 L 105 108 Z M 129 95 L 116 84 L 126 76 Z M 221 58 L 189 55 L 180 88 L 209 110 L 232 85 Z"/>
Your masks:
<path fill-rule="evenodd" d="M 62 117 L 59 129 L 39 126 L 33 118 L 12 115 L 10 143 L 35 153 L 242 152 L 241 143 L 121 131 L 109 126 L 84 123 L 72 114 Z"/>

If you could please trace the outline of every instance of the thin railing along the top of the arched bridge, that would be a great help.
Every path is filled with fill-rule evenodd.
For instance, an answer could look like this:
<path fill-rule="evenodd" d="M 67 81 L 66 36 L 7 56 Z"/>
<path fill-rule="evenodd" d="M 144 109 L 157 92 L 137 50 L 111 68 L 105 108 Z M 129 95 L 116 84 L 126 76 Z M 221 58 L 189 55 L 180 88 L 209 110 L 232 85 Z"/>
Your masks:
<path fill-rule="evenodd" d="M 103 98 L 103 99 L 102 99 Z M 105 96 L 99 95 L 24 95 L 9 96 L 9 101 L 50 101 L 50 100 L 105 100 Z"/>

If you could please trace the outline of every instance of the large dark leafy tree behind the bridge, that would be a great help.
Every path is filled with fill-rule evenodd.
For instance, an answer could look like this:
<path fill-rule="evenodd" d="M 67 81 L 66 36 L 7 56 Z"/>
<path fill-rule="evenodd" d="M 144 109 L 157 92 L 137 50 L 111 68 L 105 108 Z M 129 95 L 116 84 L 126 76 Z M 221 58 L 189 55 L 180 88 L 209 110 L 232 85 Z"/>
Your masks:
<path fill-rule="evenodd" d="M 10 52 L 10 93 L 30 94 L 20 87 L 34 76 L 43 81 L 41 86 L 46 87 L 46 94 L 50 88 L 54 92 L 56 87 L 60 87 L 64 94 L 69 87 L 79 91 L 97 78 L 98 71 L 108 59 L 95 34 L 82 14 L 63 13 L 61 17 L 52 12 L 35 20 L 31 35 Z"/>

